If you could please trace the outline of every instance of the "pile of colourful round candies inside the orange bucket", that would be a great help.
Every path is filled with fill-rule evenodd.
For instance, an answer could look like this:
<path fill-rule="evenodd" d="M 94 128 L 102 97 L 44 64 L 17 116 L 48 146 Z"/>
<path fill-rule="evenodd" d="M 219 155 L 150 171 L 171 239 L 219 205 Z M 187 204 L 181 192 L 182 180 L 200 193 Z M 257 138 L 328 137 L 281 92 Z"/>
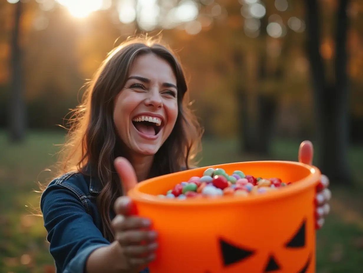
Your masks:
<path fill-rule="evenodd" d="M 209 168 L 204 171 L 202 177 L 191 177 L 188 182 L 175 185 L 168 190 L 166 195 L 160 194 L 160 198 L 187 199 L 191 197 L 213 197 L 266 193 L 291 184 L 284 183 L 280 178 L 263 179 L 252 175 L 245 175 L 242 171 L 234 171 L 228 175 L 223 169 Z"/>

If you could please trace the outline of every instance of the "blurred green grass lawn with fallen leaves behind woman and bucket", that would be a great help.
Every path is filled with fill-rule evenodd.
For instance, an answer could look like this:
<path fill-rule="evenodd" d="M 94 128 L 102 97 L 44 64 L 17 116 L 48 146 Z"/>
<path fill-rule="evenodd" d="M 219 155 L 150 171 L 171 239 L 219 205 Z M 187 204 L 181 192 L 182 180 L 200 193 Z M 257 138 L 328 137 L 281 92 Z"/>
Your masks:
<path fill-rule="evenodd" d="M 50 273 L 53 260 L 48 252 L 42 218 L 32 214 L 39 208 L 37 181 L 51 177 L 44 171 L 56 162 L 63 136 L 33 132 L 21 145 L 8 143 L 0 133 L 0 272 Z M 236 141 L 204 140 L 200 166 L 248 160 L 296 160 L 297 141 L 275 141 L 270 158 L 238 154 Z M 350 150 L 354 188 L 331 187 L 332 212 L 317 234 L 317 272 L 358 273 L 363 269 L 363 147 Z M 359 183 L 360 182 L 360 183 Z"/>

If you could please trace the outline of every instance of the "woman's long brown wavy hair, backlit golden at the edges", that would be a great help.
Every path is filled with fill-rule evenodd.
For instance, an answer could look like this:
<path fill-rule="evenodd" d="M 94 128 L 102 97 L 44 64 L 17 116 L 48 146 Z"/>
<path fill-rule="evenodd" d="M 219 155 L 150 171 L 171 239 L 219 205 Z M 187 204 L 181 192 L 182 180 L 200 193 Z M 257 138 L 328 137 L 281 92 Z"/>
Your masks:
<path fill-rule="evenodd" d="M 61 150 L 60 175 L 79 171 L 86 175 L 89 166 L 93 175 L 102 183 L 97 197 L 97 207 L 102 218 L 103 236 L 113 241 L 110 209 L 122 194 L 119 178 L 114 169 L 114 159 L 127 157 L 122 150 L 113 121 L 114 100 L 125 86 L 129 69 L 135 59 L 143 54 L 155 54 L 167 61 L 174 70 L 178 87 L 178 117 L 170 136 L 155 154 L 149 177 L 188 168 L 200 147 L 202 130 L 189 109 L 188 88 L 183 69 L 175 54 L 153 38 L 129 38 L 112 50 L 87 85 L 82 102 L 68 119 L 70 126 Z M 97 170 L 97 171 L 96 171 Z"/>

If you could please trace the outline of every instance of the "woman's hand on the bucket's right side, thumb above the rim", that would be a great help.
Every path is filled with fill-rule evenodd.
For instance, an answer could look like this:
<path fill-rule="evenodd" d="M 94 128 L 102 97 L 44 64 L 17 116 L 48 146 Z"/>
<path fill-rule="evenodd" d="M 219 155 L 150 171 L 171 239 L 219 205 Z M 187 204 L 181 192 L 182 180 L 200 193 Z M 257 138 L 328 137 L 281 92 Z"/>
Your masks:
<path fill-rule="evenodd" d="M 299 162 L 311 165 L 313 163 L 314 148 L 310 141 L 303 141 L 299 148 Z M 328 189 L 329 179 L 326 175 L 322 175 L 320 183 L 317 186 L 317 195 L 315 203 L 317 208 L 315 210 L 316 222 L 315 227 L 321 228 L 324 224 L 324 217 L 329 214 L 330 206 L 327 203 L 331 198 L 331 192 Z"/>

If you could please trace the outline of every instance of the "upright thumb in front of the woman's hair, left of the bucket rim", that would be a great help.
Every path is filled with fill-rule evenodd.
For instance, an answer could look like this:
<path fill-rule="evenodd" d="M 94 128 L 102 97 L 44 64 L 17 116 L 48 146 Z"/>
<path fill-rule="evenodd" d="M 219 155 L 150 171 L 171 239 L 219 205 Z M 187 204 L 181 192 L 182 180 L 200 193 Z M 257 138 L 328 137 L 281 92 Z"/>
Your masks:
<path fill-rule="evenodd" d="M 134 167 L 124 157 L 117 157 L 114 165 L 120 178 L 123 194 L 126 195 L 138 183 Z"/>

